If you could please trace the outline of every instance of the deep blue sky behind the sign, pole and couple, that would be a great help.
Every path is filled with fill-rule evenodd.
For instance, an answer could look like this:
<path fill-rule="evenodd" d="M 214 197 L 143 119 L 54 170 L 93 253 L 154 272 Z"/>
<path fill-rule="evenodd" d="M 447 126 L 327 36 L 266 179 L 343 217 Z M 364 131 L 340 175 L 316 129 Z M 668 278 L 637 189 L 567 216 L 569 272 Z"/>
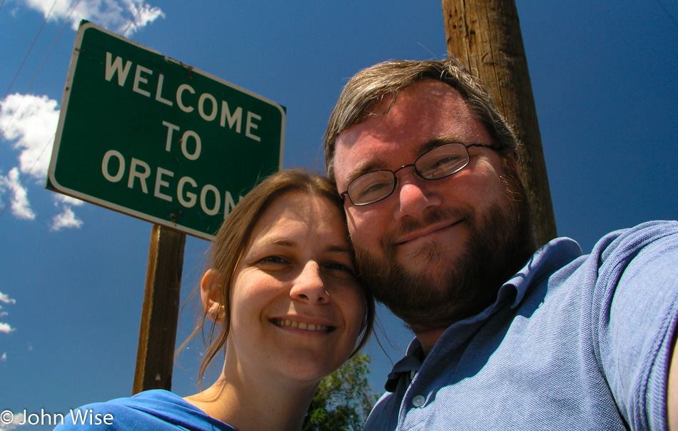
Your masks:
<path fill-rule="evenodd" d="M 677 1 L 516 3 L 559 235 L 587 251 L 610 230 L 675 219 Z M 70 18 L 76 1 L 0 4 L 0 410 L 68 412 L 131 393 L 151 224 L 46 191 L 51 137 L 73 23 L 123 33 L 142 1 L 81 0 Z M 149 1 L 126 36 L 285 106 L 284 166 L 315 171 L 347 78 L 446 56 L 438 1 Z M 207 248 L 187 240 L 183 298 Z M 380 320 L 398 360 L 409 336 L 383 310 Z M 199 351 L 175 367 L 180 395 L 196 390 Z M 390 360 L 374 343 L 368 353 L 380 390 Z"/>

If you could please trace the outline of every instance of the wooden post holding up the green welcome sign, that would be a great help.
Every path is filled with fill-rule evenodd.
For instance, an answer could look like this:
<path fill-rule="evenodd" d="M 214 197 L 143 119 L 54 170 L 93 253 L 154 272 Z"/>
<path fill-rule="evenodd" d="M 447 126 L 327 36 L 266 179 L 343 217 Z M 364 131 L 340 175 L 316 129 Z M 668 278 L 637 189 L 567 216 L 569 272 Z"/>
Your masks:
<path fill-rule="evenodd" d="M 132 394 L 172 388 L 186 233 L 153 225 Z"/>

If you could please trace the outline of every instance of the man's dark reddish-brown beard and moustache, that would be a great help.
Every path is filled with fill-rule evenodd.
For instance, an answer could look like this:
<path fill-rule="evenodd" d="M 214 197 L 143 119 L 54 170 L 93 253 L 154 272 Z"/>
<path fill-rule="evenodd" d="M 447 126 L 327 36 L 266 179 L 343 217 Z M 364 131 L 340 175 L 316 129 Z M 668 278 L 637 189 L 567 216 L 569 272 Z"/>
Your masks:
<path fill-rule="evenodd" d="M 479 214 L 472 209 L 437 209 L 424 220 L 400 226 L 412 231 L 440 220 L 463 218 L 469 236 L 462 255 L 450 262 L 445 244 L 431 243 L 420 250 L 433 270 L 415 273 L 395 261 L 395 246 L 384 241 L 383 258 L 356 246 L 356 260 L 363 282 L 375 299 L 386 305 L 416 332 L 443 329 L 480 313 L 495 302 L 497 291 L 525 265 L 536 246 L 532 234 L 527 195 L 515 170 L 505 163 L 503 199 Z M 423 266 L 430 268 L 430 265 Z"/>

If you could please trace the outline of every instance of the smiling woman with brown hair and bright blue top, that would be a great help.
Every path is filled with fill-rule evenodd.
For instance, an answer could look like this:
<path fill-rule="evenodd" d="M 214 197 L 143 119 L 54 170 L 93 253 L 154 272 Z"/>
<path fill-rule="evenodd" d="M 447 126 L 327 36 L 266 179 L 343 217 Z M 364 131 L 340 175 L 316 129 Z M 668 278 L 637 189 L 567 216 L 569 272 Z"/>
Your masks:
<path fill-rule="evenodd" d="M 320 379 L 372 329 L 373 298 L 355 280 L 343 206 L 323 177 L 283 171 L 256 186 L 224 221 L 208 268 L 191 338 L 212 324 L 198 381 L 223 352 L 221 377 L 183 399 L 151 390 L 81 407 L 80 417 L 99 421 L 86 425 L 300 430 Z"/>

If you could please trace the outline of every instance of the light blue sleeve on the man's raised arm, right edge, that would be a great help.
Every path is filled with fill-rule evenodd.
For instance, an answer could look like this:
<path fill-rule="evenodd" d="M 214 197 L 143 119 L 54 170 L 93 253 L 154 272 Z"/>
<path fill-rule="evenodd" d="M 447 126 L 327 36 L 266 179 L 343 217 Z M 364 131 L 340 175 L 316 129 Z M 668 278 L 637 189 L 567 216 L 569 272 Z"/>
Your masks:
<path fill-rule="evenodd" d="M 631 429 L 665 430 L 678 319 L 678 222 L 644 223 L 606 238 L 594 248 L 596 355 Z"/>

